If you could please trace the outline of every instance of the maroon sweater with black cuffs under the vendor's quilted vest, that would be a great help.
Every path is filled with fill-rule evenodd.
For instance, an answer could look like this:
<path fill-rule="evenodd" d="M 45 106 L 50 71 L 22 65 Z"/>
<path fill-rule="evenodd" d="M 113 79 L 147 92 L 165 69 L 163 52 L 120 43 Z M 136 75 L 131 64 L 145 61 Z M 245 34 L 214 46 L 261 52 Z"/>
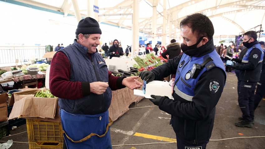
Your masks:
<path fill-rule="evenodd" d="M 91 58 L 91 55 L 88 53 Z M 50 91 L 56 97 L 62 99 L 79 99 L 90 94 L 89 82 L 70 81 L 71 65 L 66 55 L 59 51 L 51 61 Z M 113 76 L 108 71 L 108 85 L 111 90 L 125 88 L 122 80 L 125 77 Z"/>

